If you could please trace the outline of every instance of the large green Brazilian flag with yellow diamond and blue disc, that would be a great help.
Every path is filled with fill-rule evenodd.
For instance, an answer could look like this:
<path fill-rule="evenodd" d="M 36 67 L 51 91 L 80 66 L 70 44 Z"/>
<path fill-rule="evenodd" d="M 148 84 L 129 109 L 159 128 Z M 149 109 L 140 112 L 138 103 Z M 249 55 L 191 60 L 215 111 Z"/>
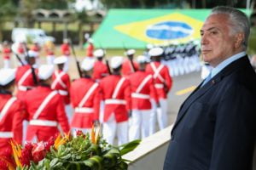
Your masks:
<path fill-rule="evenodd" d="M 96 48 L 145 48 L 148 43 L 199 40 L 210 13 L 211 9 L 110 9 L 92 38 Z"/>

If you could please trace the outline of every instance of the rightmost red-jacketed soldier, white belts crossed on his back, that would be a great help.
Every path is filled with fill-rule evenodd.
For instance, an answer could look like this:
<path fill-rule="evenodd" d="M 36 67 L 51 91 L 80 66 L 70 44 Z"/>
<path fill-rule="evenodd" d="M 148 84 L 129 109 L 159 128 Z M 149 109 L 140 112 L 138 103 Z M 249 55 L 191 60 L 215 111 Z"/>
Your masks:
<path fill-rule="evenodd" d="M 163 129 L 167 126 L 167 94 L 172 88 L 172 77 L 168 67 L 160 63 L 160 58 L 164 54 L 163 48 L 152 48 L 148 54 L 153 61 L 147 65 L 146 71 L 154 77 L 154 88 L 160 99 L 160 108 L 156 110 L 157 120 L 160 129 Z M 150 134 L 154 133 L 154 124 L 155 122 L 151 122 Z"/>

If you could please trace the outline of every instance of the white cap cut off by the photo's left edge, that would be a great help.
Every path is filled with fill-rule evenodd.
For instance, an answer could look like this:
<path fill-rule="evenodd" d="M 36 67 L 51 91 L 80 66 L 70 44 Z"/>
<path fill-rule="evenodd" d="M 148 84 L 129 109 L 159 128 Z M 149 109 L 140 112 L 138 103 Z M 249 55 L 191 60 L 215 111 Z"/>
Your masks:
<path fill-rule="evenodd" d="M 15 69 L 1 69 L 0 70 L 0 85 L 5 86 L 9 82 L 15 80 Z"/>

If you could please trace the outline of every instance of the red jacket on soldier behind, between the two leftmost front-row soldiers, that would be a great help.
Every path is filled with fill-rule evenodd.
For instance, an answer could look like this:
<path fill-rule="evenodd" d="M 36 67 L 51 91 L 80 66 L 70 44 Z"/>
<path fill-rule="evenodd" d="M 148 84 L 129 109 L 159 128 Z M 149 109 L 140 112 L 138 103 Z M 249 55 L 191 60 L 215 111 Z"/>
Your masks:
<path fill-rule="evenodd" d="M 38 69 L 35 69 L 35 73 L 36 75 L 38 74 Z M 31 65 L 22 65 L 18 67 L 15 75 L 15 82 L 18 88 L 16 96 L 18 99 L 22 100 L 28 89 L 36 87 L 32 77 Z"/>

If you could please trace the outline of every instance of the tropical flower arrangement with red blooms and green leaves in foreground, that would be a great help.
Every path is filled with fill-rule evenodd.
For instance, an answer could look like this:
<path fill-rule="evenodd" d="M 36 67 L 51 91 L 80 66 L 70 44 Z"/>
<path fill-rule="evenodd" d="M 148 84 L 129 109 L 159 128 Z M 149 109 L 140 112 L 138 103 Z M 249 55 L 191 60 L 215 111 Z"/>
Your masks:
<path fill-rule="evenodd" d="M 102 139 L 99 127 L 93 127 L 90 134 L 78 131 L 76 138 L 70 134 L 58 135 L 47 142 L 27 143 L 23 148 L 13 141 L 12 156 L 0 157 L 0 169 L 125 170 L 128 160 L 122 156 L 134 150 L 139 143 L 140 140 L 134 140 L 115 147 Z"/>

